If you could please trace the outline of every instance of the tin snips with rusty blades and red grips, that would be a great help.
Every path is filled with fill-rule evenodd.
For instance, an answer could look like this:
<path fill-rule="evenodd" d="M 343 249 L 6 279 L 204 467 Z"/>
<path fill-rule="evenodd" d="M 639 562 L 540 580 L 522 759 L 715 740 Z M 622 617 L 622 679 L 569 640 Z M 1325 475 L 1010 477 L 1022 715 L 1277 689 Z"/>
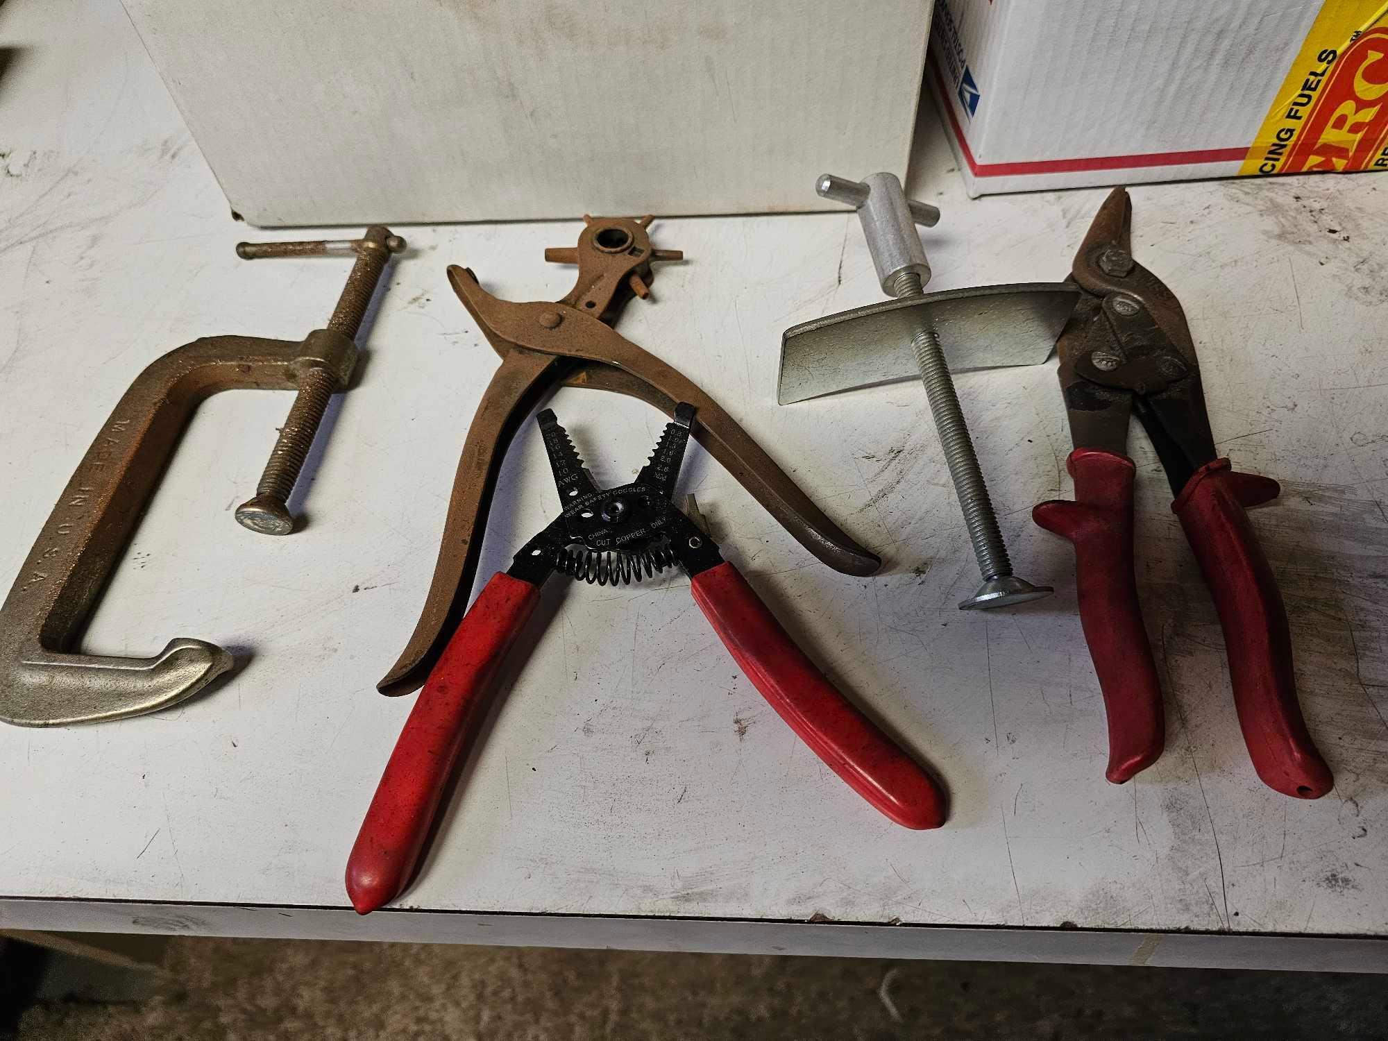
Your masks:
<path fill-rule="evenodd" d="M 1165 741 L 1162 690 L 1133 572 L 1135 466 L 1124 451 L 1135 412 L 1219 612 L 1253 769 L 1284 795 L 1320 798 L 1334 779 L 1306 731 L 1287 609 L 1244 512 L 1281 489 L 1217 457 L 1185 314 L 1133 260 L 1131 221 L 1127 192 L 1115 189 L 1074 258 L 1072 278 L 1084 296 L 1058 347 L 1074 501 L 1033 511 L 1041 527 L 1074 544 L 1080 622 L 1108 712 L 1108 779 L 1128 780 L 1160 756 Z"/>

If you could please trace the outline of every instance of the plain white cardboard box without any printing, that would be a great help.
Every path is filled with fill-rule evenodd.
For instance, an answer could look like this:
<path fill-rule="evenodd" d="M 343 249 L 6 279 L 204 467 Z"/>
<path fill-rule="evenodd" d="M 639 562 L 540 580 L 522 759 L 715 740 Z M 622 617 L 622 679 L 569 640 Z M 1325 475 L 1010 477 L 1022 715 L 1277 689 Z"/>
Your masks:
<path fill-rule="evenodd" d="M 923 0 L 124 0 L 232 208 L 357 225 L 841 208 L 905 175 Z"/>

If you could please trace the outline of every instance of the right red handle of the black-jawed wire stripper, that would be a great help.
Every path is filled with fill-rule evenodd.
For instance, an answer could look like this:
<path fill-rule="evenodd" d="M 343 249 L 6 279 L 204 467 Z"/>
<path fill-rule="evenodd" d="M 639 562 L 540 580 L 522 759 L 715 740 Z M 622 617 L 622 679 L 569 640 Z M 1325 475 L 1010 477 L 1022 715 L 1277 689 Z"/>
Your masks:
<path fill-rule="evenodd" d="M 752 686 L 826 766 L 904 827 L 945 822 L 936 780 L 815 668 L 731 564 L 700 572 L 691 590 Z"/>

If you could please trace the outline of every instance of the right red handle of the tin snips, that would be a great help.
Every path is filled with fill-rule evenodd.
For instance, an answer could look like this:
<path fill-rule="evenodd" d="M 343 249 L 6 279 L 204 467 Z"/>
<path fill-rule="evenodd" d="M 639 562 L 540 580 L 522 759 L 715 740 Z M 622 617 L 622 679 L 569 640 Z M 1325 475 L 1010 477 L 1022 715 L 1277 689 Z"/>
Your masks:
<path fill-rule="evenodd" d="M 1258 544 L 1245 507 L 1281 491 L 1276 480 L 1234 473 L 1228 459 L 1195 471 L 1171 504 L 1219 611 L 1234 708 L 1253 769 L 1292 798 L 1314 799 L 1335 779 L 1316 750 L 1292 672 L 1292 644 L 1277 579 Z"/>

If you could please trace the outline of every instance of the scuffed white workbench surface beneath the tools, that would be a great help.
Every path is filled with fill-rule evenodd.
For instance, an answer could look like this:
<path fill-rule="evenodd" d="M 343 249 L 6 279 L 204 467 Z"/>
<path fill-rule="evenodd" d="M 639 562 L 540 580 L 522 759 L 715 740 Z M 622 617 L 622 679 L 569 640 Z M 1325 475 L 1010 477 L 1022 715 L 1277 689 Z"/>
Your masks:
<path fill-rule="evenodd" d="M 304 236 L 233 221 L 114 0 L 11 0 L 0 46 L 8 583 L 146 364 L 205 335 L 303 336 L 347 262 L 236 258 L 243 237 Z M 1062 278 L 1103 193 L 969 201 L 931 111 L 922 128 L 915 193 L 944 210 L 927 233 L 933 287 Z M 959 389 L 1017 573 L 1056 595 L 960 613 L 977 575 L 919 389 L 776 405 L 781 330 L 879 298 L 856 219 L 670 219 L 657 244 L 688 260 L 662 268 L 623 335 L 719 397 L 883 552 L 883 573 L 818 564 L 698 450 L 684 483 L 812 655 L 947 780 L 951 819 L 895 827 L 820 766 L 682 576 L 618 591 L 555 582 L 554 618 L 398 904 L 415 911 L 357 919 L 344 861 L 412 702 L 373 684 L 414 626 L 497 364 L 444 266 L 472 266 L 502 297 L 554 298 L 572 269 L 541 250 L 572 244 L 579 225 L 404 228 L 412 248 L 300 497 L 307 529 L 266 539 L 230 512 L 289 394 L 214 397 L 85 641 L 144 655 L 196 636 L 236 650 L 236 675 L 154 716 L 0 726 L 0 927 L 1388 966 L 1373 940 L 1388 936 L 1388 178 L 1133 197 L 1135 253 L 1185 307 L 1221 450 L 1283 482 L 1255 526 L 1334 794 L 1298 802 L 1255 777 L 1213 608 L 1140 433 L 1138 577 L 1169 738 L 1155 768 L 1115 787 L 1070 547 L 1029 516 L 1070 491 L 1053 362 Z M 607 394 L 552 404 L 604 483 L 634 472 L 662 423 Z M 483 575 L 554 512 L 526 428 Z M 797 924 L 812 917 L 858 924 Z"/>

